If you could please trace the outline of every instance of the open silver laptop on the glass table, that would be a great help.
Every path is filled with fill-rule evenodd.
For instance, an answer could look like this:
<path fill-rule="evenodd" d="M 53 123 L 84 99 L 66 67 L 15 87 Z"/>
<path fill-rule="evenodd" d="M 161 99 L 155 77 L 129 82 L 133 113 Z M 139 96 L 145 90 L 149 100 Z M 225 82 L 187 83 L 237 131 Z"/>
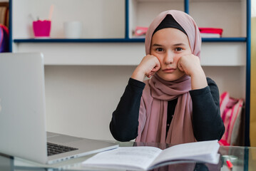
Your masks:
<path fill-rule="evenodd" d="M 53 164 L 118 147 L 46 132 L 42 53 L 0 53 L 0 152 Z M 55 150 L 47 150 L 52 147 Z"/>

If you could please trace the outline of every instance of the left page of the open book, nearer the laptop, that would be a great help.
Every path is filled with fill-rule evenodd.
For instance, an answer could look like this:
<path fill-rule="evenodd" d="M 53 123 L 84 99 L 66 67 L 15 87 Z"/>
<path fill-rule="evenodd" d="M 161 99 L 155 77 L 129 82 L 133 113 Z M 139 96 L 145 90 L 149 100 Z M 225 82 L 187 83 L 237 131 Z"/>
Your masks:
<path fill-rule="evenodd" d="M 157 147 L 118 147 L 114 150 L 100 152 L 94 155 L 84 161 L 83 165 L 140 168 L 147 170 L 150 163 L 155 160 L 155 157 L 157 157 L 161 151 L 162 150 Z"/>

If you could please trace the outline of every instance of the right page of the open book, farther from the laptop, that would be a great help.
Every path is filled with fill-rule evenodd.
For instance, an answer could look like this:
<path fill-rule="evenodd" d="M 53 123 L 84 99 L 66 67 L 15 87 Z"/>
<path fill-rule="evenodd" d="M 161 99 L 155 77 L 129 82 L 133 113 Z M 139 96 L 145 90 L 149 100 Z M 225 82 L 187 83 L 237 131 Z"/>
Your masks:
<path fill-rule="evenodd" d="M 174 145 L 163 150 L 151 166 L 171 160 L 193 160 L 217 164 L 220 158 L 217 154 L 219 147 L 217 140 Z"/>

